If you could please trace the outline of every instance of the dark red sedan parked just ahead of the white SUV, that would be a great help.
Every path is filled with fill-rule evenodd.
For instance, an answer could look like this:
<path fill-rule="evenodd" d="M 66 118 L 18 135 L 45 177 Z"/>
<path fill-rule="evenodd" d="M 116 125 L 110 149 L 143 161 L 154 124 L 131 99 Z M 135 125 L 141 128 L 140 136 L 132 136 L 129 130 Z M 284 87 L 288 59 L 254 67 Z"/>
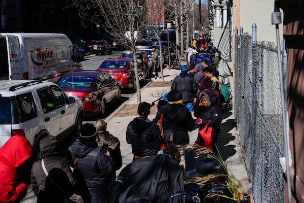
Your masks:
<path fill-rule="evenodd" d="M 57 84 L 67 95 L 81 98 L 87 117 L 104 115 L 106 108 L 121 98 L 122 83 L 105 72 L 68 73 Z"/>

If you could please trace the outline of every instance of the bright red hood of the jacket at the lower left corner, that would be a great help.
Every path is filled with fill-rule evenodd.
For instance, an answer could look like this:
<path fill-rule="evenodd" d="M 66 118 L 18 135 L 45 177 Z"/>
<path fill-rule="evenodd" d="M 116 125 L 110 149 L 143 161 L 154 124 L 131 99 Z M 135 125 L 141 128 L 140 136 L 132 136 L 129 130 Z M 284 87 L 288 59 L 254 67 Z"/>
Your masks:
<path fill-rule="evenodd" d="M 33 148 L 23 136 L 11 137 L 0 148 L 0 157 L 7 159 L 15 167 L 22 165 L 32 155 Z"/>

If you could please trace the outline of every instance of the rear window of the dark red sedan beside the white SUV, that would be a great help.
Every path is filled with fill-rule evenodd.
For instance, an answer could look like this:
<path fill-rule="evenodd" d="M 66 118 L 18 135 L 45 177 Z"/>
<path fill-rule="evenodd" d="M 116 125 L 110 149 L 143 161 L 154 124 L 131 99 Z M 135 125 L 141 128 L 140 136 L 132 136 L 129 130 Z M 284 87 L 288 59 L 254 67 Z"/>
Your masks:
<path fill-rule="evenodd" d="M 92 77 L 62 77 L 58 85 L 62 88 L 88 88 L 93 85 Z"/>

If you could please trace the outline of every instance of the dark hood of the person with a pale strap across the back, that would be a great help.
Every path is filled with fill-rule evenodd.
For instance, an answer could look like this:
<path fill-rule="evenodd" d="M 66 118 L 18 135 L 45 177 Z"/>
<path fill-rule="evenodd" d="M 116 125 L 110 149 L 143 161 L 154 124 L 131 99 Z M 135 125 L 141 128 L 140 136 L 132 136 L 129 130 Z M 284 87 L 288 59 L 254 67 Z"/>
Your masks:
<path fill-rule="evenodd" d="M 59 140 L 55 136 L 43 137 L 39 145 L 41 158 L 60 154 Z"/>

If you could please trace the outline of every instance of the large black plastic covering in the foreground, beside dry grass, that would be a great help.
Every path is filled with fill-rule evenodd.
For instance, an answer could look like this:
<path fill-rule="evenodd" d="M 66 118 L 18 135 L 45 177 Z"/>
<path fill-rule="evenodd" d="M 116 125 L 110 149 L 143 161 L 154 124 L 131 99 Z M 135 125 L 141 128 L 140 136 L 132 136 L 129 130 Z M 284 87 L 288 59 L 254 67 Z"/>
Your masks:
<path fill-rule="evenodd" d="M 123 168 L 112 193 L 112 203 L 181 202 L 171 195 L 183 190 L 182 168 L 167 154 L 137 159 Z"/>

